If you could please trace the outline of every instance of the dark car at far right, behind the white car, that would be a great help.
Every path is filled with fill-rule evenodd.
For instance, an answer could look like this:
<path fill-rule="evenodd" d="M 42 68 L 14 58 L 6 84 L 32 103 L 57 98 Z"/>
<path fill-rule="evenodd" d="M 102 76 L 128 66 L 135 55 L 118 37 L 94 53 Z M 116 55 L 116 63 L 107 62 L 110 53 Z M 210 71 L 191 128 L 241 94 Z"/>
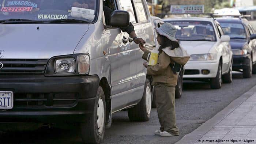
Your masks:
<path fill-rule="evenodd" d="M 241 71 L 244 78 L 256 73 L 256 35 L 244 18 L 218 18 L 225 35 L 230 36 L 233 52 L 233 71 Z"/>

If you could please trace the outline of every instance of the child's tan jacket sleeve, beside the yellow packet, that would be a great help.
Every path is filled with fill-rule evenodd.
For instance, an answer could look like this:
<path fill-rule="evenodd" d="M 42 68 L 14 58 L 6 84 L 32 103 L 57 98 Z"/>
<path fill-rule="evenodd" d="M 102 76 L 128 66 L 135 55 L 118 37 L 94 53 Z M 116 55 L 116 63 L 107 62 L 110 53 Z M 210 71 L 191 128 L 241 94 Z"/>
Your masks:
<path fill-rule="evenodd" d="M 164 71 L 167 67 L 169 67 L 171 63 L 170 57 L 162 52 L 158 57 L 158 61 L 156 65 L 148 66 L 147 74 L 148 75 L 163 75 Z"/>

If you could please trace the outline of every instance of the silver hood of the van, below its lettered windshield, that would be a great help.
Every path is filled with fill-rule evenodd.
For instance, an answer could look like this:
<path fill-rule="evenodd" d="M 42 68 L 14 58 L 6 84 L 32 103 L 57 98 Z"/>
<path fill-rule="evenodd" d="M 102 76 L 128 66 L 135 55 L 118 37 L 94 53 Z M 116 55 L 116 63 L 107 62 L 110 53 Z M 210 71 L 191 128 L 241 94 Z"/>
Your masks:
<path fill-rule="evenodd" d="M 41 59 L 73 54 L 87 24 L 1 24 L 0 58 Z"/>

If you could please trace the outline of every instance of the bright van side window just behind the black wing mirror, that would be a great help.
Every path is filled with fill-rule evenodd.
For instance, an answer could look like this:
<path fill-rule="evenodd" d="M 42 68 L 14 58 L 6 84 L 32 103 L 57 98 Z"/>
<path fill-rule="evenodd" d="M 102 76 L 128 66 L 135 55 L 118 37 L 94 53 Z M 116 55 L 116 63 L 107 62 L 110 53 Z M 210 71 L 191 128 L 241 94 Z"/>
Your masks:
<path fill-rule="evenodd" d="M 131 0 L 120 0 L 121 9 L 124 11 L 128 11 L 130 14 L 130 22 L 136 23 L 135 19 L 135 12 L 133 9 L 132 1 Z"/>

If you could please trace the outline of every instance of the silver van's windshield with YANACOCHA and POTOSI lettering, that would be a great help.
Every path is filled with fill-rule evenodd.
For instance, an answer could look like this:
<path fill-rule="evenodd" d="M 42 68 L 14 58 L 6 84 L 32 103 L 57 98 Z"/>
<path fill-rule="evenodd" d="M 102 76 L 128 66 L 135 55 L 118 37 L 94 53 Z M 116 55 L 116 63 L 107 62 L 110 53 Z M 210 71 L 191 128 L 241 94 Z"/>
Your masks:
<path fill-rule="evenodd" d="M 92 22 L 96 0 L 0 0 L 0 21 L 61 20 Z"/>

